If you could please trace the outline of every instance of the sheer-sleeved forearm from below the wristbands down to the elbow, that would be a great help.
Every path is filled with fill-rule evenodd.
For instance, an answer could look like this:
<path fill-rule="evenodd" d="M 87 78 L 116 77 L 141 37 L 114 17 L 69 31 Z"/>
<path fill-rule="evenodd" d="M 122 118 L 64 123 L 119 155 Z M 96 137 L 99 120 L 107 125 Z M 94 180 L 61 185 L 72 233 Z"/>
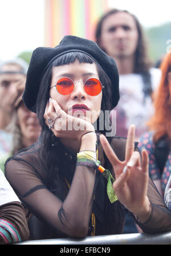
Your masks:
<path fill-rule="evenodd" d="M 59 221 L 64 233 L 72 237 L 85 237 L 93 202 L 95 170 L 78 166 L 71 184 L 70 192 L 63 202 Z"/>

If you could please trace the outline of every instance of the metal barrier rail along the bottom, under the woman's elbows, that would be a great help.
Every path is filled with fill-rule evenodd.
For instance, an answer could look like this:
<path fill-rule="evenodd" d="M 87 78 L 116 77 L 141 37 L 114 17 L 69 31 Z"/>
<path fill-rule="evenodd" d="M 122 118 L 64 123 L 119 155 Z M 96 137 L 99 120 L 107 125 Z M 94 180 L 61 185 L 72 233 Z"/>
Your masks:
<path fill-rule="evenodd" d="M 15 245 L 169 245 L 171 232 L 161 234 L 99 235 L 84 239 L 46 239 L 16 243 Z"/>

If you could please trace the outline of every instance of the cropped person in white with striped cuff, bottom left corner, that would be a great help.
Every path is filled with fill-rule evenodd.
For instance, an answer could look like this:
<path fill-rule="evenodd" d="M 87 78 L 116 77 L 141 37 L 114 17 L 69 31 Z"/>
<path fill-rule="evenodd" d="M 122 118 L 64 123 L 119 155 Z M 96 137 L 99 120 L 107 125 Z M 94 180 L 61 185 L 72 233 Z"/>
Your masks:
<path fill-rule="evenodd" d="M 28 237 L 25 210 L 0 170 L 0 244 L 22 242 Z"/>

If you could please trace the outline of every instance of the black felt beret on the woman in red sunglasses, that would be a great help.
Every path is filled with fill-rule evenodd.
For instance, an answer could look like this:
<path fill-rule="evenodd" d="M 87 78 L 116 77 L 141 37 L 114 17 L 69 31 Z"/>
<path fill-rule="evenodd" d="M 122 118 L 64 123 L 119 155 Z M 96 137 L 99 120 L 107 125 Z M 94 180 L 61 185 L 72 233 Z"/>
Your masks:
<path fill-rule="evenodd" d="M 27 71 L 26 87 L 23 93 L 23 101 L 27 108 L 36 112 L 36 99 L 38 96 L 40 80 L 47 67 L 59 56 L 79 51 L 91 56 L 99 63 L 112 82 L 112 108 L 119 101 L 119 73 L 115 60 L 102 51 L 99 46 L 88 39 L 67 35 L 58 46 L 38 47 L 31 56 Z"/>

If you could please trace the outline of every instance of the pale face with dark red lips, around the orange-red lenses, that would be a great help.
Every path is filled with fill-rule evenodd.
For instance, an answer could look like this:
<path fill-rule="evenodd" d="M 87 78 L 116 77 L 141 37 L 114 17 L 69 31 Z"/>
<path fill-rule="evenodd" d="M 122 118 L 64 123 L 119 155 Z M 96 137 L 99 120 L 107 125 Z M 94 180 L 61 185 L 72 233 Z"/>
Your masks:
<path fill-rule="evenodd" d="M 62 77 L 71 78 L 76 82 L 71 94 L 62 95 L 58 93 L 56 87 L 52 87 Z M 95 63 L 79 63 L 76 60 L 68 65 L 54 67 L 50 97 L 55 99 L 67 114 L 94 123 L 100 114 L 102 91 L 96 96 L 88 95 L 84 90 L 83 83 L 89 78 L 99 79 Z"/>

